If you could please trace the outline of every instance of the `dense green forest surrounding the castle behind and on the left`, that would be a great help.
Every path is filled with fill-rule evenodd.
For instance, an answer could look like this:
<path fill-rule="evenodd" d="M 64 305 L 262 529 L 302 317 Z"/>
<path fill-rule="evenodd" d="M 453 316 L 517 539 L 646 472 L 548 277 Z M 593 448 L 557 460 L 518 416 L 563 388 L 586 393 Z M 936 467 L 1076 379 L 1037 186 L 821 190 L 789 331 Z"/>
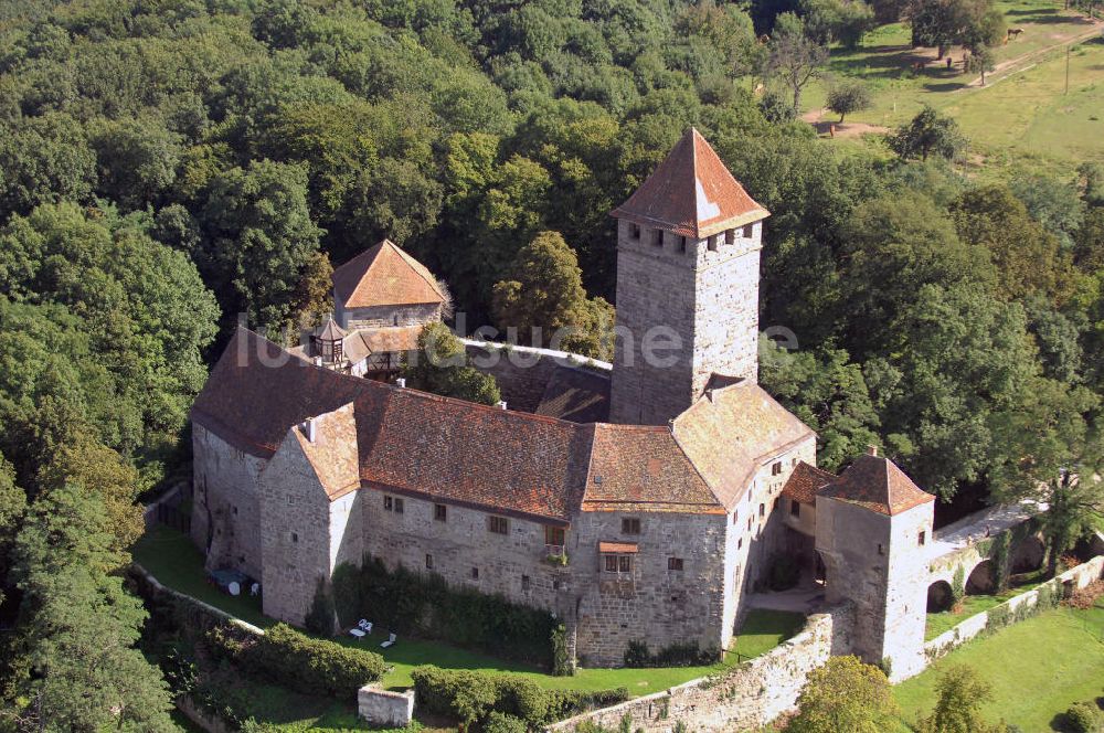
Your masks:
<path fill-rule="evenodd" d="M 606 355 L 608 212 L 691 125 L 772 212 L 761 328 L 799 348 L 764 339 L 761 381 L 820 464 L 879 445 L 947 517 L 1045 499 L 1071 545 L 1101 510 L 1053 477 L 1104 457 L 1104 164 L 979 182 L 931 109 L 880 150 L 818 139 L 792 81 L 903 12 L 0 2 L 0 731 L 172 730 L 121 571 L 241 318 L 287 338 L 389 237 L 469 327 Z"/>

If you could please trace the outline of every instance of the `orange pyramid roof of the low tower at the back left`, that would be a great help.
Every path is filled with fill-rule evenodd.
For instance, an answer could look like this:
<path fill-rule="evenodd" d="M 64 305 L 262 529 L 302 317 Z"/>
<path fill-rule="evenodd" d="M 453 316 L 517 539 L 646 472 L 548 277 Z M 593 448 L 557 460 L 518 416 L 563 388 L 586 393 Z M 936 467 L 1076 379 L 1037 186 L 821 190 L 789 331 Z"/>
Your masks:
<path fill-rule="evenodd" d="M 333 294 L 346 308 L 444 302 L 437 279 L 425 265 L 390 240 L 333 270 Z"/>

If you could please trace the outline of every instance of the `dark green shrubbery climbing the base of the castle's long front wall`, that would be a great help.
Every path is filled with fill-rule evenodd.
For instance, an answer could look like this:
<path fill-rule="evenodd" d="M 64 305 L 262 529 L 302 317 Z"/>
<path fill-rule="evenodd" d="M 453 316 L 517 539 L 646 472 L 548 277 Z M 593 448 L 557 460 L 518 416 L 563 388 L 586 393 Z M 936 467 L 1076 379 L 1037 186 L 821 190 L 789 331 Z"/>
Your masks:
<path fill-rule="evenodd" d="M 546 610 L 511 603 L 501 595 L 453 587 L 436 573 L 402 566 L 389 571 L 371 556 L 360 567 L 339 565 L 331 585 L 342 626 L 367 618 L 399 635 L 444 639 L 546 669 L 570 667 L 555 663 L 552 637 L 560 623 Z"/>

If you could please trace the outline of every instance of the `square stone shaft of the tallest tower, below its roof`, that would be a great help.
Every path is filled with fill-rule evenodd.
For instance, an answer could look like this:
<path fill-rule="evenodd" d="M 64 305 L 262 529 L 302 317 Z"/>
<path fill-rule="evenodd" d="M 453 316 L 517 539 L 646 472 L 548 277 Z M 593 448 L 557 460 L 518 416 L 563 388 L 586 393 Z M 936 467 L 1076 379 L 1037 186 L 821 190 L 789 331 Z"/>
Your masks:
<path fill-rule="evenodd" d="M 749 237 L 736 232 L 710 247 L 618 222 L 611 422 L 666 425 L 714 373 L 757 379 L 762 224 Z M 649 342 L 669 363 L 645 358 Z"/>

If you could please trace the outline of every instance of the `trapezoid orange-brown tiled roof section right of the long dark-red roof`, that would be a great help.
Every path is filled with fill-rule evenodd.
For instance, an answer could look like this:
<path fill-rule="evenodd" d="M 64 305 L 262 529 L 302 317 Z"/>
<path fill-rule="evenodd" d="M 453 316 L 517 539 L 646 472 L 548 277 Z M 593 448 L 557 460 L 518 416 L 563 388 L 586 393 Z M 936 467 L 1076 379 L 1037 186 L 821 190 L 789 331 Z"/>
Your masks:
<path fill-rule="evenodd" d="M 666 426 L 593 426 L 584 511 L 724 512 Z M 649 509 L 649 507 L 651 509 Z"/>

